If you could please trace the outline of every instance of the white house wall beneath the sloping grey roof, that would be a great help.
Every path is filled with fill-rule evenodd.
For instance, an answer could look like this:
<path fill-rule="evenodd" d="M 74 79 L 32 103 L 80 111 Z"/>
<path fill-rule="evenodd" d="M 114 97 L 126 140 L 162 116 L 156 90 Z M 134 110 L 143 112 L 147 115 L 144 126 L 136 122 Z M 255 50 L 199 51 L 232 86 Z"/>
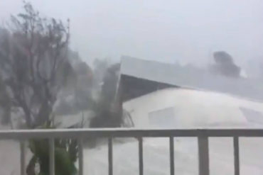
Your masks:
<path fill-rule="evenodd" d="M 173 108 L 174 123 L 171 125 L 168 121 L 167 128 L 251 128 L 263 125 L 263 103 L 208 91 L 163 89 L 127 101 L 123 107 L 132 116 L 136 128 L 156 127 L 149 121 L 149 115 L 154 118 L 154 112 L 168 115 L 171 113 L 169 108 Z M 240 108 L 258 113 L 257 120 L 262 120 L 262 123 L 251 122 L 254 116 L 244 114 Z"/>

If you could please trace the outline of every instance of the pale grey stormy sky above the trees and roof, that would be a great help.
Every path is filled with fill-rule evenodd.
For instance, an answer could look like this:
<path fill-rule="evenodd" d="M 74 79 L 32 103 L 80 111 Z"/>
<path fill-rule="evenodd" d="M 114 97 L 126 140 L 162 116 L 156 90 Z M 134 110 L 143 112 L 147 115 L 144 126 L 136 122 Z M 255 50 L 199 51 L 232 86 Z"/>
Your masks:
<path fill-rule="evenodd" d="M 0 0 L 0 18 L 21 11 Z M 226 50 L 237 64 L 263 60 L 262 0 L 31 0 L 45 16 L 70 18 L 84 60 L 121 55 L 206 64 Z"/>

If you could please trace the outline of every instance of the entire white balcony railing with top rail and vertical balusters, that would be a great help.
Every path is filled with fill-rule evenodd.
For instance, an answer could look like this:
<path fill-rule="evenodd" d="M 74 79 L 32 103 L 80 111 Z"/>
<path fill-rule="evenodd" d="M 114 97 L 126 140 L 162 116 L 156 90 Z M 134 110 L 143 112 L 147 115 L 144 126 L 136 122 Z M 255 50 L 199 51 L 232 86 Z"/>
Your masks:
<path fill-rule="evenodd" d="M 7 130 L 0 132 L 0 139 L 20 140 L 21 142 L 21 175 L 26 174 L 25 140 L 49 139 L 50 175 L 55 175 L 55 138 L 75 138 L 79 147 L 79 174 L 83 174 L 82 140 L 88 137 L 108 138 L 109 175 L 112 175 L 112 138 L 136 137 L 139 140 L 139 175 L 144 174 L 143 137 L 168 137 L 170 142 L 170 171 L 174 174 L 174 144 L 173 137 L 197 137 L 199 175 L 209 175 L 208 137 L 232 137 L 234 144 L 235 175 L 240 174 L 239 137 L 263 137 L 263 130 L 136 130 L 136 129 L 70 129 L 70 130 Z"/>

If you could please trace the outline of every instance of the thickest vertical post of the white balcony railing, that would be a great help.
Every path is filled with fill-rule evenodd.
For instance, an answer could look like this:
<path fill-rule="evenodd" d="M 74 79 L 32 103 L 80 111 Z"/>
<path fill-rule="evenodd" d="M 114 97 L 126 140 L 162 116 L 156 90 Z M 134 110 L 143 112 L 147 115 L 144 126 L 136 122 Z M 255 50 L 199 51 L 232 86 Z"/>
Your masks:
<path fill-rule="evenodd" d="M 208 137 L 198 137 L 199 175 L 209 175 Z"/>

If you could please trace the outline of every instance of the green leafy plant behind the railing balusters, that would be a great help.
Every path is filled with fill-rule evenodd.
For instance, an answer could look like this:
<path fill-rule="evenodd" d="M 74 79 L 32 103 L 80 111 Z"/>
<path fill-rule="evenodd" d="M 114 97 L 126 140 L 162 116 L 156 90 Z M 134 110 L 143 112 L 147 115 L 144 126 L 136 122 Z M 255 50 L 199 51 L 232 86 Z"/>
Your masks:
<path fill-rule="evenodd" d="M 50 123 L 43 128 L 51 128 Z M 42 128 L 42 129 L 43 129 Z M 49 174 L 49 143 L 48 140 L 30 140 L 29 148 L 33 153 L 26 172 L 28 175 L 48 175 Z M 56 175 L 75 175 L 77 168 L 77 140 L 56 139 L 55 140 L 55 174 Z M 39 172 L 36 166 L 39 165 Z"/>

